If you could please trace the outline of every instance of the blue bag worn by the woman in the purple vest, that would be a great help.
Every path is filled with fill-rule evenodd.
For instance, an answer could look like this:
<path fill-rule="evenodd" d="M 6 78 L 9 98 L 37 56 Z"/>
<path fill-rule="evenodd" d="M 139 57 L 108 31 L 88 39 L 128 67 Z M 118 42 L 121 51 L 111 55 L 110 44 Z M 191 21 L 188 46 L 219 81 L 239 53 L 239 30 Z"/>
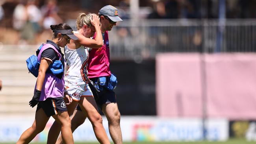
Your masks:
<path fill-rule="evenodd" d="M 41 44 L 41 46 L 38 48 L 39 54 L 38 56 L 31 55 L 27 60 L 27 66 L 28 66 L 28 71 L 33 74 L 36 78 L 38 76 L 38 71 L 39 71 L 39 66 L 40 66 L 40 61 L 41 61 L 41 54 L 44 50 L 47 48 L 52 48 L 54 49 L 58 56 L 59 60 L 54 61 L 50 66 L 50 71 L 54 75 L 61 74 L 64 70 L 63 65 L 61 63 L 61 54 L 56 50 L 56 48 L 52 44 Z M 42 51 L 41 51 L 42 50 Z"/>

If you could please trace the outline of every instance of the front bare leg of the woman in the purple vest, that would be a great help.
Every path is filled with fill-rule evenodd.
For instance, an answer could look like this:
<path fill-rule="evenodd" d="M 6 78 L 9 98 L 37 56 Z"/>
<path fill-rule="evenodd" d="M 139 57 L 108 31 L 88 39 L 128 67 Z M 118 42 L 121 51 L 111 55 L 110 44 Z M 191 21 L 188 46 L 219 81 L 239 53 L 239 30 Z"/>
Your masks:
<path fill-rule="evenodd" d="M 62 139 L 65 144 L 74 144 L 71 131 L 71 120 L 67 111 L 52 116 L 59 124 L 61 124 Z M 49 143 L 50 144 L 50 143 Z"/>

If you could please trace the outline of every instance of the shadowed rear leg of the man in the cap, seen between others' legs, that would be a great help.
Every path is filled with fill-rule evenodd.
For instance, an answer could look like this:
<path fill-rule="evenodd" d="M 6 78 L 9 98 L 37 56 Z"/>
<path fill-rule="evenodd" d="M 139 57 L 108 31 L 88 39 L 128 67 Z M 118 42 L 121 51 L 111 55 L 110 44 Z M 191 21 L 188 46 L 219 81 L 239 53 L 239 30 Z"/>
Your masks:
<path fill-rule="evenodd" d="M 86 116 L 82 111 L 75 110 L 72 116 L 70 117 L 70 119 L 71 119 L 71 131 L 73 133 L 77 127 L 83 124 L 83 122 L 86 119 Z M 63 144 L 61 134 L 59 135 L 56 144 Z"/>

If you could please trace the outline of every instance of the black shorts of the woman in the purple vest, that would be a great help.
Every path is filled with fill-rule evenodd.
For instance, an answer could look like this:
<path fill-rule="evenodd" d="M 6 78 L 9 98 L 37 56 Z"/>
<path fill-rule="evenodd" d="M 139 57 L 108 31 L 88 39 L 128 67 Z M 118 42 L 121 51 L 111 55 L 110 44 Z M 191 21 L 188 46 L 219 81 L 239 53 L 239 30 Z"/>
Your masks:
<path fill-rule="evenodd" d="M 67 111 L 66 103 L 64 102 L 63 97 L 47 98 L 44 101 L 39 101 L 36 111 L 38 111 L 40 108 L 43 108 L 43 111 L 48 117 L 58 114 L 58 112 L 62 113 Z"/>

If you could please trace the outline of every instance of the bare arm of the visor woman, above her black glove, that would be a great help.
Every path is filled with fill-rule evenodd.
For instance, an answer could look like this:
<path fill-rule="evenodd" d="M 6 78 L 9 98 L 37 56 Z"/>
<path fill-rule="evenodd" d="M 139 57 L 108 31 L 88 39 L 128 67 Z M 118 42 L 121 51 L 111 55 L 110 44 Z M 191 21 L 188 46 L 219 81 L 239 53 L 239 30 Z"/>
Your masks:
<path fill-rule="evenodd" d="M 41 59 L 38 77 L 37 77 L 37 90 L 42 90 L 43 83 L 45 81 L 45 72 L 50 66 L 51 61 L 46 59 Z"/>

